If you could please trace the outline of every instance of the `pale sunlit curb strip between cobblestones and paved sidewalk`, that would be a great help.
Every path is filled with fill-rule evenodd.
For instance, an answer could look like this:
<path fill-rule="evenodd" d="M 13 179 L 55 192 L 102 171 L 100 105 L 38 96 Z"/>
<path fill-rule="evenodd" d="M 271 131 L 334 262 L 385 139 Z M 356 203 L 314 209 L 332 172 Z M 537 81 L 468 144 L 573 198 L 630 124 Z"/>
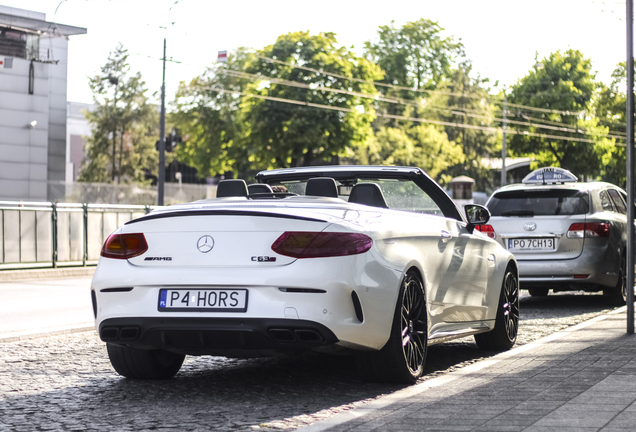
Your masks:
<path fill-rule="evenodd" d="M 568 327 L 564 330 L 561 330 L 557 333 L 553 333 L 549 336 L 546 336 L 544 338 L 541 338 L 539 340 L 536 340 L 534 342 L 530 342 L 528 344 L 525 345 L 521 345 L 517 348 L 513 348 L 510 351 L 506 351 L 497 355 L 492 356 L 491 358 L 488 359 L 484 359 L 481 360 L 477 363 L 474 363 L 472 365 L 466 366 L 464 368 L 461 368 L 460 370 L 454 371 L 454 372 L 449 372 L 443 376 L 437 377 L 437 378 L 433 378 L 430 379 L 428 381 L 424 381 L 421 384 L 416 384 L 410 387 L 407 387 L 405 389 L 402 390 L 398 390 L 394 393 L 391 393 L 389 395 L 386 396 L 382 396 L 379 399 L 376 399 L 372 402 L 369 402 L 367 404 L 364 405 L 360 405 L 358 407 L 355 407 L 351 410 L 348 411 L 343 411 L 341 413 L 338 413 L 336 415 L 334 415 L 333 417 L 327 418 L 325 420 L 321 420 L 319 422 L 313 423 L 311 425 L 307 425 L 304 427 L 300 427 L 298 429 L 296 429 L 297 431 L 303 431 L 303 432 L 322 432 L 325 430 L 328 430 L 332 427 L 335 427 L 337 425 L 355 420 L 357 418 L 360 418 L 362 416 L 366 416 L 370 413 L 373 413 L 374 411 L 378 411 L 381 410 L 395 402 L 400 401 L 401 399 L 404 398 L 408 398 L 408 397 L 412 397 L 415 395 L 418 395 L 420 393 L 423 393 L 433 387 L 439 387 L 443 384 L 447 384 L 451 381 L 454 381 L 458 378 L 464 377 L 466 375 L 470 375 L 474 372 L 480 371 L 488 366 L 492 366 L 496 363 L 499 363 L 499 361 L 501 359 L 504 358 L 508 358 L 508 357 L 513 357 L 515 355 L 524 353 L 526 351 L 530 351 L 534 348 L 537 348 L 541 345 L 544 345 L 548 342 L 552 342 L 556 339 L 560 339 L 564 336 L 567 336 L 568 334 L 575 332 L 577 330 L 580 330 L 582 328 L 588 327 L 598 321 L 603 321 L 607 318 L 609 318 L 612 315 L 618 314 L 618 313 L 625 313 L 625 311 L 627 310 L 627 306 L 622 306 L 616 310 L 613 310 L 611 312 L 608 312 L 604 315 L 600 315 L 597 316 L 595 318 L 592 318 L 588 321 L 582 322 L 580 324 L 574 325 L 572 327 Z"/>

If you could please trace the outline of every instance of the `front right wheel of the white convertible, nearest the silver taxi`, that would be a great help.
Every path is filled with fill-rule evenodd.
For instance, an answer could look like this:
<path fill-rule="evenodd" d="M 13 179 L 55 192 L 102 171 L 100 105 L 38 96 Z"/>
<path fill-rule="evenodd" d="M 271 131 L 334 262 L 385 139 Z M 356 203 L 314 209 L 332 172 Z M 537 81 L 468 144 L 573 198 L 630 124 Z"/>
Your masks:
<path fill-rule="evenodd" d="M 495 328 L 475 335 L 477 346 L 488 351 L 506 351 L 517 341 L 519 331 L 519 278 L 508 267 L 499 294 Z"/>

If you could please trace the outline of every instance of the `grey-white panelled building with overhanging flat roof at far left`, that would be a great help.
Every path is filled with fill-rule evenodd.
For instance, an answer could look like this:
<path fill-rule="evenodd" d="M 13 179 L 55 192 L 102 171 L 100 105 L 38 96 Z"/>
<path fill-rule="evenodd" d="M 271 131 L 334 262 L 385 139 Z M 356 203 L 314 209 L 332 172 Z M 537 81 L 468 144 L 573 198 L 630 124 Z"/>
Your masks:
<path fill-rule="evenodd" d="M 46 201 L 66 180 L 68 37 L 85 33 L 0 6 L 0 200 Z"/>

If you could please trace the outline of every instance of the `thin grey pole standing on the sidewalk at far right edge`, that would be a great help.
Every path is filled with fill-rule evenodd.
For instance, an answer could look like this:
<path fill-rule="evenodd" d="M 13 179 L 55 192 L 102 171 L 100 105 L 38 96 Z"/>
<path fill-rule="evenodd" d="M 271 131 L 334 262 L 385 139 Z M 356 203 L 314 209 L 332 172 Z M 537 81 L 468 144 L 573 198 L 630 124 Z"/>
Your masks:
<path fill-rule="evenodd" d="M 634 334 L 634 1 L 627 0 L 627 334 Z"/>

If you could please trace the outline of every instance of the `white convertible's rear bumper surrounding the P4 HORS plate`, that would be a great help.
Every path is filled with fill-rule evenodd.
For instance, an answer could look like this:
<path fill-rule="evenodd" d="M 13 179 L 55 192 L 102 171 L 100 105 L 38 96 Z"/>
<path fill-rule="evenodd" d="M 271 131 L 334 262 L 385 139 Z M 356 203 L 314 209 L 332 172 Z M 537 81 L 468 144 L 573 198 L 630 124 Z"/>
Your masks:
<path fill-rule="evenodd" d="M 354 349 L 382 348 L 389 338 L 401 273 L 378 265 L 368 254 L 298 261 L 272 268 L 150 269 L 102 258 L 92 282 L 95 325 L 104 341 L 146 348 L 164 347 L 167 342 L 176 346 L 173 336 L 189 340 L 191 329 L 199 342 L 188 342 L 187 347 L 199 347 L 202 354 L 212 353 L 205 351 L 212 341 L 219 341 L 222 350 L 240 350 L 243 343 L 254 349 L 333 343 Z M 240 313 L 167 312 L 158 310 L 162 288 L 240 288 L 249 292 L 249 300 L 247 310 Z M 117 328 L 103 335 L 106 325 Z M 126 329 L 122 340 L 123 327 L 136 328 Z M 281 331 L 273 337 L 272 328 Z M 320 340 L 313 338 L 312 331 Z M 173 339 L 164 342 L 157 336 L 161 332 Z M 245 342 L 228 345 L 227 340 L 234 337 Z M 275 343 L 276 337 L 282 343 Z M 293 338 L 293 346 L 285 338 L 290 343 Z"/>

